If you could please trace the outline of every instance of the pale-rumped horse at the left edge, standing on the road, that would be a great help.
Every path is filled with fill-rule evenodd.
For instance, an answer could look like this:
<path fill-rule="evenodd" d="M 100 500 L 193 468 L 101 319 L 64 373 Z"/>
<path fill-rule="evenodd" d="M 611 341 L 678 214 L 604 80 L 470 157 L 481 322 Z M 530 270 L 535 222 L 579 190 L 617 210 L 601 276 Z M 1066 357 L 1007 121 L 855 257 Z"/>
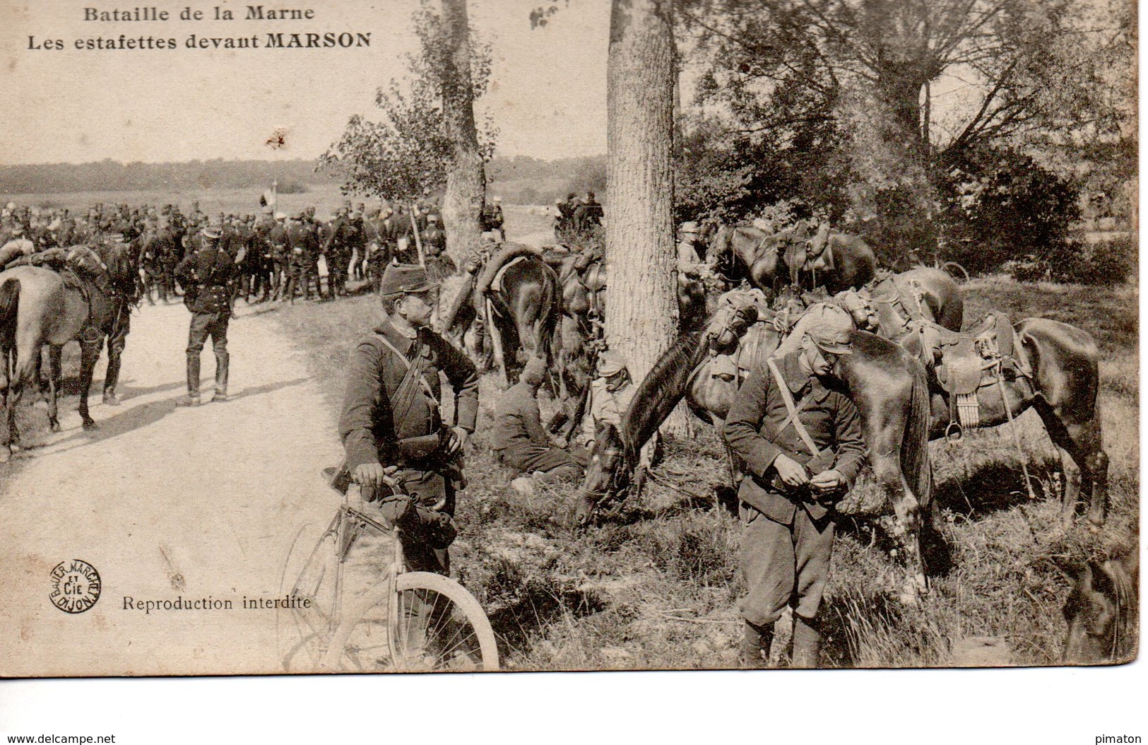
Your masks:
<path fill-rule="evenodd" d="M 47 401 L 52 432 L 60 430 L 56 397 L 61 382 L 61 354 L 63 346 L 73 339 L 80 343 L 79 414 L 84 428 L 95 427 L 88 413 L 87 396 L 106 336 L 108 372 L 104 377 L 104 401 L 118 403 L 115 389 L 121 356 L 130 329 L 131 308 L 140 294 L 137 249 L 116 243 L 95 249 L 73 246 L 45 254 L 57 259 L 55 265 L 65 267 L 56 271 L 48 265 L 29 263 L 0 272 L 0 354 L 6 377 L 2 389 L 6 427 L 0 460 L 7 460 L 20 441 L 16 406 L 24 386 L 37 377 L 40 349 L 45 344 L 48 346 Z M 76 266 L 80 267 L 83 276 Z"/>

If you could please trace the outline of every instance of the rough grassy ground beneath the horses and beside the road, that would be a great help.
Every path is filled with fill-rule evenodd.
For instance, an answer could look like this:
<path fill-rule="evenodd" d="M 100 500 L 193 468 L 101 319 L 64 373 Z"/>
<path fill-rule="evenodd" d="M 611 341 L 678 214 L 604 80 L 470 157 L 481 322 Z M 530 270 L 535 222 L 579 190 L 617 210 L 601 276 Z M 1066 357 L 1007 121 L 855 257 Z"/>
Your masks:
<path fill-rule="evenodd" d="M 545 219 L 509 211 L 511 238 L 541 236 Z M 518 230 L 514 230 L 514 228 Z M 521 231 L 521 232 L 519 232 Z M 1086 557 L 1137 541 L 1139 492 L 1138 289 L 1017 285 L 980 279 L 964 287 L 967 318 L 988 309 L 1015 320 L 1045 316 L 1088 329 L 1100 341 L 1104 442 L 1111 458 L 1112 511 L 1097 535 L 1060 528 L 1055 451 L 1033 413 L 1017 420 L 1023 456 L 1007 428 L 933 443 L 941 506 L 939 545 L 930 551 L 931 592 L 920 607 L 898 603 L 901 569 L 884 520 L 844 520 L 828 593 L 833 667 L 968 663 L 978 637 L 994 661 L 1053 665 L 1062 654 L 1061 613 L 1071 572 Z M 347 344 L 377 318 L 371 297 L 278 311 L 310 351 L 312 371 L 336 416 Z M 739 528 L 709 507 L 723 473 L 716 436 L 669 442 L 635 504 L 585 535 L 571 529 L 573 490 L 523 498 L 492 465 L 486 436 L 497 389 L 482 381 L 479 432 L 468 456 L 470 487 L 459 507 L 452 566 L 491 616 L 512 669 L 723 668 L 736 666 Z M 1045 495 L 1030 500 L 1022 457 Z M 864 487 L 861 487 L 864 488 Z M 785 638 L 775 643 L 781 654 Z M 1007 649 L 1004 655 L 1000 650 Z"/>

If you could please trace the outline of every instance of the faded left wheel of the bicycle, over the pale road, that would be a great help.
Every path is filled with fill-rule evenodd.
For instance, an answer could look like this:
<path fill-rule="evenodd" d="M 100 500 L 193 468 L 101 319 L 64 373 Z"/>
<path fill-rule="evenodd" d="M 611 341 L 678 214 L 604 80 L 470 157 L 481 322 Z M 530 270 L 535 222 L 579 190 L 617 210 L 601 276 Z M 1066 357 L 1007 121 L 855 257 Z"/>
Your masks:
<path fill-rule="evenodd" d="M 279 591 L 284 596 L 309 599 L 309 607 L 276 611 L 276 638 L 279 660 L 288 673 L 317 673 L 333 631 L 335 597 L 335 535 L 305 525 L 295 534 Z M 313 541 L 313 543 L 312 543 Z"/>

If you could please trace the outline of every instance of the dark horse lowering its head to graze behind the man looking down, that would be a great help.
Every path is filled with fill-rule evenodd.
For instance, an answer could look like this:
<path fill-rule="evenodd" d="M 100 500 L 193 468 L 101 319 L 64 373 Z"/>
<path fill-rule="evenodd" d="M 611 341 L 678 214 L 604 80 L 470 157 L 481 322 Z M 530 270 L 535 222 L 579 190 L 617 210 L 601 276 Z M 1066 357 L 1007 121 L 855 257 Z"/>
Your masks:
<path fill-rule="evenodd" d="M 782 333 L 771 323 L 759 320 L 760 312 L 753 300 L 723 303 L 705 329 L 680 337 L 658 359 L 638 385 L 621 426 L 607 425 L 598 433 L 579 490 L 580 523 L 594 518 L 603 498 L 629 489 L 642 445 L 683 397 L 698 418 L 720 432 L 740 382 L 743 362 L 745 368 L 765 365 L 770 355 L 797 349 L 804 324 L 815 315 L 844 313 L 832 305 L 815 305 L 808 311 L 814 316 L 807 313 L 783 342 Z M 745 326 L 748 331 L 743 334 Z M 874 480 L 897 515 L 893 534 L 905 549 L 908 572 L 903 597 L 912 602 L 928 588 L 920 538 L 922 515 L 934 509 L 928 380 L 924 367 L 900 346 L 860 331 L 852 333 L 852 341 L 853 354 L 840 359 L 839 372 L 861 414 Z M 711 355 L 712 348 L 731 350 L 735 344 L 740 358 L 731 372 L 708 368 L 719 359 Z M 736 489 L 742 474 L 732 458 L 729 463 Z"/>

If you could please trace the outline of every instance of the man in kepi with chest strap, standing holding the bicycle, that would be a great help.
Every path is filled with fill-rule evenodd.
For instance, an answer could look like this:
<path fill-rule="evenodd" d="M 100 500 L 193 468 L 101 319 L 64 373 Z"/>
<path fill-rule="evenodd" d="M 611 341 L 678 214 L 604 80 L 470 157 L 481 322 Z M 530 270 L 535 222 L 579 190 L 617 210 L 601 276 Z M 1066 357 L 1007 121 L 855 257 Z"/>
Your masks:
<path fill-rule="evenodd" d="M 450 569 L 461 453 L 479 413 L 479 373 L 466 355 L 430 329 L 437 284 L 412 264 L 389 264 L 380 281 L 383 320 L 359 340 L 347 370 L 339 420 L 343 473 L 367 487 L 382 518 L 401 528 L 413 571 Z M 439 373 L 455 395 L 455 424 L 442 421 Z M 381 488 L 395 475 L 412 497 Z"/>

